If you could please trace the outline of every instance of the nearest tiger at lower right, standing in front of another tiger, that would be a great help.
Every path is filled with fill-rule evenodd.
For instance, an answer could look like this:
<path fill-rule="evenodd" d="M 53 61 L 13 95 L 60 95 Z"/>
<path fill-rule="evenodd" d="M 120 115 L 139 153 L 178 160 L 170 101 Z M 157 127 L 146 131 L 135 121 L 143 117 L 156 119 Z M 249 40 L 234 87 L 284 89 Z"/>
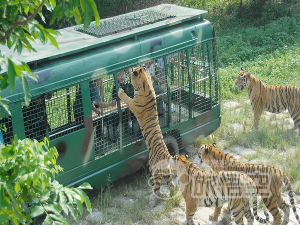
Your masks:
<path fill-rule="evenodd" d="M 170 163 L 173 172 L 179 178 L 180 192 L 185 199 L 186 220 L 194 224 L 193 216 L 197 206 L 222 207 L 229 203 L 230 210 L 237 225 L 244 224 L 243 216 L 248 225 L 253 224 L 254 217 L 249 207 L 249 198 L 253 200 L 253 214 L 260 223 L 267 223 L 266 219 L 257 215 L 257 195 L 255 183 L 247 175 L 239 172 L 203 171 L 195 163 L 187 160 L 184 155 L 176 155 Z"/>

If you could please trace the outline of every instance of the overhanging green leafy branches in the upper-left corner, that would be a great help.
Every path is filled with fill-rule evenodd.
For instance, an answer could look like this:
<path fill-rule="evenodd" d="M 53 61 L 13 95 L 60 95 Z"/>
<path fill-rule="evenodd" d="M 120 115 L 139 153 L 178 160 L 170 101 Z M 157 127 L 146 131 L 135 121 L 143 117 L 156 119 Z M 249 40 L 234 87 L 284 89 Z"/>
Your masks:
<path fill-rule="evenodd" d="M 36 52 L 32 45 L 36 40 L 43 44 L 51 41 L 58 48 L 54 36 L 58 36 L 59 32 L 45 28 L 37 22 L 35 17 L 39 15 L 39 18 L 45 22 L 42 11 L 45 8 L 52 14 L 50 24 L 62 17 L 75 18 L 76 23 L 80 24 L 82 17 L 78 5 L 84 14 L 84 29 L 90 25 L 92 14 L 95 16 L 96 25 L 99 24 L 100 17 L 94 0 L 63 0 L 58 4 L 56 4 L 56 0 L 1 0 L 0 43 L 10 49 L 13 48 L 20 54 L 24 48 L 28 52 Z M 27 75 L 36 78 L 29 66 L 0 52 L 0 74 L 2 74 L 0 90 L 9 86 L 12 91 L 15 86 L 15 78 L 18 77 L 21 80 L 25 93 L 25 104 L 29 105 L 29 85 L 24 77 Z M 5 106 L 5 102 L 0 101 L 0 105 Z"/>

